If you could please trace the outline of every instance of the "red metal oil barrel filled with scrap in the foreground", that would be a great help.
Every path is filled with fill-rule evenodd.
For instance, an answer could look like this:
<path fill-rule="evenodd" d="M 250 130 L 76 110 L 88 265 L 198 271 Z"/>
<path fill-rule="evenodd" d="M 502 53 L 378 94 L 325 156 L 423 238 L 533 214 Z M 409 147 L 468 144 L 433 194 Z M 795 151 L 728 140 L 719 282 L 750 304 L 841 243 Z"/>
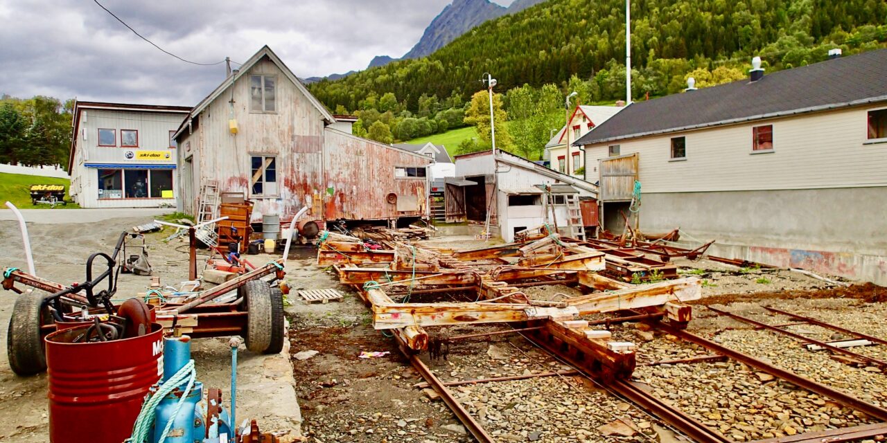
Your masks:
<path fill-rule="evenodd" d="M 142 337 L 71 343 L 85 327 L 46 336 L 50 441 L 120 443 L 163 372 L 163 328 Z"/>

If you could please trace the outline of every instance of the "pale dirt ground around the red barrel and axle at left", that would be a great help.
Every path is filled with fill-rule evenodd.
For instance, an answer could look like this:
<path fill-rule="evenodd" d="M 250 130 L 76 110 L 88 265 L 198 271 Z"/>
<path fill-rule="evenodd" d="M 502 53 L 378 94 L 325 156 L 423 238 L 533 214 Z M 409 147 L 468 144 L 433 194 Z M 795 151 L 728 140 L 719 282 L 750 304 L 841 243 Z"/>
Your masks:
<path fill-rule="evenodd" d="M 138 214 L 133 218 L 109 218 L 114 217 L 114 210 L 104 214 L 90 212 L 80 218 L 79 211 L 64 211 L 67 222 L 59 220 L 59 211 L 43 210 L 45 216 L 36 211 L 26 214 L 38 276 L 62 284 L 82 281 L 84 263 L 90 253 L 111 253 L 124 229 L 153 219 L 153 213 L 145 211 L 119 213 Z M 186 244 L 177 240 L 163 244 L 161 239 L 169 234 L 168 229 L 165 233 L 149 234 L 146 240 L 154 275 L 161 276 L 162 284 L 176 285 L 187 279 Z M 271 260 L 271 256 L 255 256 L 251 260 L 262 264 Z M 0 221 L 0 268 L 6 267 L 27 268 L 19 227 L 14 221 Z M 116 298 L 144 292 L 149 278 L 122 274 Z M 0 291 L 0 343 L 4 345 L 15 297 L 12 291 Z M 224 402 L 230 401 L 231 386 L 231 351 L 227 341 L 227 338 L 204 338 L 194 340 L 192 348 L 198 380 L 207 387 L 222 388 Z M 256 355 L 240 346 L 237 416 L 238 421 L 256 418 L 263 431 L 280 431 L 292 438 L 299 433 L 301 416 L 287 353 L 288 349 L 277 355 Z M 0 353 L 0 441 L 48 441 L 46 392 L 45 373 L 17 377 L 9 369 L 6 353 Z"/>

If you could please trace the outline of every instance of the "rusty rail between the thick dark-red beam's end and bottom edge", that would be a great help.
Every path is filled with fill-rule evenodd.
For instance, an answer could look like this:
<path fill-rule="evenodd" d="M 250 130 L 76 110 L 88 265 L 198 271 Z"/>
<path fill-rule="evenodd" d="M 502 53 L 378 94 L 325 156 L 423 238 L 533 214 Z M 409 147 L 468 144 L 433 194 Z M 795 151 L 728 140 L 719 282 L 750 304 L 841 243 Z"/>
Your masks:
<path fill-rule="evenodd" d="M 644 391 L 635 382 L 627 380 L 616 380 L 608 384 L 608 388 L 616 391 L 624 398 L 631 400 L 641 408 L 652 412 L 655 416 L 668 422 L 679 431 L 683 432 L 690 439 L 700 443 L 733 443 L 733 440 L 727 439 L 718 431 L 702 424 L 692 416 L 687 416 L 678 408 L 671 406 L 671 403 L 659 399 L 650 392 Z"/>

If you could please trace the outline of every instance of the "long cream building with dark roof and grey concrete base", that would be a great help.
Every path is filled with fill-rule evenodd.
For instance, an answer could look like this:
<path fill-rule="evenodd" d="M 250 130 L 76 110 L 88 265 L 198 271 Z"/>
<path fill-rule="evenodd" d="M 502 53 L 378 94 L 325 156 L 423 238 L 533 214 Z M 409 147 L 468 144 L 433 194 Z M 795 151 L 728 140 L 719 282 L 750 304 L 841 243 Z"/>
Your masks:
<path fill-rule="evenodd" d="M 625 107 L 575 143 L 604 227 L 637 180 L 641 230 L 887 284 L 885 72 L 887 50 L 868 51 Z"/>

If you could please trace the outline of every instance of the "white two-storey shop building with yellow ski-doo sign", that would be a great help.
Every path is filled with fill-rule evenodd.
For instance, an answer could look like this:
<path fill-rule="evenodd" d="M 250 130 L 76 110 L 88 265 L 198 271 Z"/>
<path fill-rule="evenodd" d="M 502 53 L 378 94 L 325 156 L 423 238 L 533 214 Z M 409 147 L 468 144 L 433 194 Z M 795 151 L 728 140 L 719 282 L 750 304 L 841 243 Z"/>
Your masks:
<path fill-rule="evenodd" d="M 175 207 L 172 135 L 191 108 L 77 101 L 69 194 L 82 207 Z"/>

